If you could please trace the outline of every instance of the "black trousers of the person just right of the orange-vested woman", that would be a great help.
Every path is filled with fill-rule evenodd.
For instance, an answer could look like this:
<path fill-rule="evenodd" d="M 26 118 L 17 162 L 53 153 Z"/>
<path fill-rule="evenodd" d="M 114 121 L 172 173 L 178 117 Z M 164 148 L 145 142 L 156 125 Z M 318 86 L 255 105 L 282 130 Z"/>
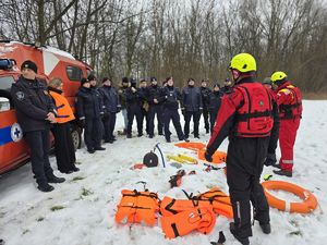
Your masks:
<path fill-rule="evenodd" d="M 100 118 L 86 118 L 84 142 L 87 149 L 101 146 L 104 124 Z"/>

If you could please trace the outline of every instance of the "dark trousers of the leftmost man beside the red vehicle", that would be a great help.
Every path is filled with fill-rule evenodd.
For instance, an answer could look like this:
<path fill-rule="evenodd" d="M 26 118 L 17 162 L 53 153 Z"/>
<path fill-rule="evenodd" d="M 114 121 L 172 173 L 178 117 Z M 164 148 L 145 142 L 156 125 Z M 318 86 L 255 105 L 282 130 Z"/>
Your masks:
<path fill-rule="evenodd" d="M 26 132 L 25 138 L 31 148 L 32 171 L 39 185 L 48 183 L 53 176 L 49 161 L 50 138 L 49 130 Z"/>

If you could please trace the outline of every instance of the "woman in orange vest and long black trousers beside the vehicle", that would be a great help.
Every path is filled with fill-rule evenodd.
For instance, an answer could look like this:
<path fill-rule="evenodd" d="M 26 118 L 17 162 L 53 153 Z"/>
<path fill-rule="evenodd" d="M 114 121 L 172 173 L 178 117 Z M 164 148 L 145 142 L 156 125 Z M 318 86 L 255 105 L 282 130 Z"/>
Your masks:
<path fill-rule="evenodd" d="M 62 95 L 62 81 L 53 77 L 49 81 L 48 89 L 57 109 L 56 122 L 51 132 L 55 136 L 55 151 L 58 170 L 62 173 L 77 172 L 75 148 L 70 122 L 75 119 L 72 108 Z"/>

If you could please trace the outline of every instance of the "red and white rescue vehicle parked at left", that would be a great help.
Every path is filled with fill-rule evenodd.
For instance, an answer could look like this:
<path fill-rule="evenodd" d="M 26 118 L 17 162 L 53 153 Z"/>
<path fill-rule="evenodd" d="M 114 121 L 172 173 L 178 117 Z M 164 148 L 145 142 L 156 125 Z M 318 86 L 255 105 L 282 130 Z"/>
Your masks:
<path fill-rule="evenodd" d="M 0 174 L 24 164 L 29 158 L 29 148 L 23 138 L 10 96 L 11 85 L 21 75 L 20 68 L 25 60 L 37 64 L 39 78 L 49 81 L 56 76 L 63 81 L 64 96 L 73 110 L 80 81 L 92 73 L 90 66 L 62 50 L 34 44 L 0 41 Z M 81 132 L 73 122 L 75 148 L 81 145 Z"/>

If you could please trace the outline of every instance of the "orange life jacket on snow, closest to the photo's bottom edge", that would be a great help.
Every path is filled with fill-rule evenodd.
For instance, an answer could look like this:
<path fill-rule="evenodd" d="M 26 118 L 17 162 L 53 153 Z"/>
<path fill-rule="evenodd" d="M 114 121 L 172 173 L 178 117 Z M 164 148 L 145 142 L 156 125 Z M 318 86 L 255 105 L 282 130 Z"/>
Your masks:
<path fill-rule="evenodd" d="M 191 208 L 174 216 L 161 218 L 161 228 L 167 238 L 183 236 L 194 230 L 208 234 L 215 223 L 216 215 L 211 207 Z"/>

